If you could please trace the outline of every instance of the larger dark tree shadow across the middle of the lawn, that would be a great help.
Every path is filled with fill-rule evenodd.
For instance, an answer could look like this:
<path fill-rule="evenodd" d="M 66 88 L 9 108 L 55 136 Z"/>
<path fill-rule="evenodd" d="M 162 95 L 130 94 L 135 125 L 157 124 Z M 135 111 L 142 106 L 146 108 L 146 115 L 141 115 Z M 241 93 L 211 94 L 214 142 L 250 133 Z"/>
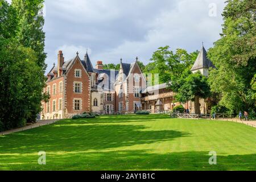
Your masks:
<path fill-rule="evenodd" d="M 75 125 L 75 126 L 73 126 Z M 79 125 L 79 126 L 77 126 Z M 88 125 L 82 121 L 48 125 L 1 139 L 4 152 L 86 151 L 164 142 L 190 134 L 175 130 L 146 130 L 143 125 Z"/>

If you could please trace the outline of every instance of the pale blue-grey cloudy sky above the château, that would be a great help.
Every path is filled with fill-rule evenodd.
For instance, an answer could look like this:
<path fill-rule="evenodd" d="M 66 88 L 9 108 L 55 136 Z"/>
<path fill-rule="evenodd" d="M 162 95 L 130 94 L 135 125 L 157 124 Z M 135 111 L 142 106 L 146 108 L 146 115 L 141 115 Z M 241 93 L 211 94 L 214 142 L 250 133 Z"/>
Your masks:
<path fill-rule="evenodd" d="M 46 0 L 47 71 L 58 50 L 67 60 L 88 49 L 94 65 L 136 56 L 147 64 L 167 45 L 192 52 L 204 42 L 208 49 L 219 38 L 224 6 L 224 0 Z"/>

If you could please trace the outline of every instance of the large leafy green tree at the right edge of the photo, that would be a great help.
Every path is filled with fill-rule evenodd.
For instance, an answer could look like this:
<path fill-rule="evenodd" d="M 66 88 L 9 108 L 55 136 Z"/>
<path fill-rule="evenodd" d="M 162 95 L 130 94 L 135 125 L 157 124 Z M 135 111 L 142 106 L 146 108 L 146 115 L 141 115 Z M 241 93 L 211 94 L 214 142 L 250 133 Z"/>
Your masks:
<path fill-rule="evenodd" d="M 256 2 L 226 2 L 221 38 L 208 52 L 217 68 L 210 71 L 210 88 L 220 94 L 219 104 L 231 111 L 255 110 L 255 90 L 251 82 L 256 72 Z"/>

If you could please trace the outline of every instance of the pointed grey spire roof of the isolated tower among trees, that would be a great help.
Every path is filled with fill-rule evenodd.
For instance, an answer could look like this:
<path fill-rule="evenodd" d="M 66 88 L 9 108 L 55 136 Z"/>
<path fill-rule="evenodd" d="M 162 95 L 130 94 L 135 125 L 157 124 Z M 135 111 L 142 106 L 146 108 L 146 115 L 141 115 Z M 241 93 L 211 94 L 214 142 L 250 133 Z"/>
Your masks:
<path fill-rule="evenodd" d="M 214 65 L 213 65 L 212 61 L 210 61 L 207 58 L 207 51 L 205 51 L 205 48 L 203 46 L 201 48 L 199 55 L 197 56 L 195 64 L 191 68 L 191 71 L 196 71 L 196 70 L 203 69 L 203 68 L 209 69 L 211 67 L 214 68 Z"/>

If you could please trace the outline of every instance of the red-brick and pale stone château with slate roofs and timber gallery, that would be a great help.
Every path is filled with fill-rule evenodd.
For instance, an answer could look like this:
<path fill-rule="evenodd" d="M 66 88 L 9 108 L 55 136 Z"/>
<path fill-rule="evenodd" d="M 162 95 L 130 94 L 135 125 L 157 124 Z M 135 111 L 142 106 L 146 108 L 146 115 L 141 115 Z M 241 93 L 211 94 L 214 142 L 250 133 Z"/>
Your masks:
<path fill-rule="evenodd" d="M 41 119 L 71 118 L 75 114 L 97 112 L 101 114 L 129 114 L 137 110 L 172 110 L 176 105 L 174 93 L 167 84 L 148 86 L 147 79 L 138 65 L 138 57 L 131 63 L 122 63 L 119 71 L 104 70 L 102 61 L 96 67 L 86 52 L 84 59 L 79 53 L 64 61 L 63 52 L 59 51 L 57 65 L 53 64 L 47 74 L 46 88 L 50 99 L 42 102 Z M 192 68 L 192 72 L 201 71 L 208 75 L 213 67 L 202 47 Z M 208 113 L 206 101 L 201 100 L 201 113 Z M 193 111 L 193 103 L 188 102 L 185 108 Z"/>

